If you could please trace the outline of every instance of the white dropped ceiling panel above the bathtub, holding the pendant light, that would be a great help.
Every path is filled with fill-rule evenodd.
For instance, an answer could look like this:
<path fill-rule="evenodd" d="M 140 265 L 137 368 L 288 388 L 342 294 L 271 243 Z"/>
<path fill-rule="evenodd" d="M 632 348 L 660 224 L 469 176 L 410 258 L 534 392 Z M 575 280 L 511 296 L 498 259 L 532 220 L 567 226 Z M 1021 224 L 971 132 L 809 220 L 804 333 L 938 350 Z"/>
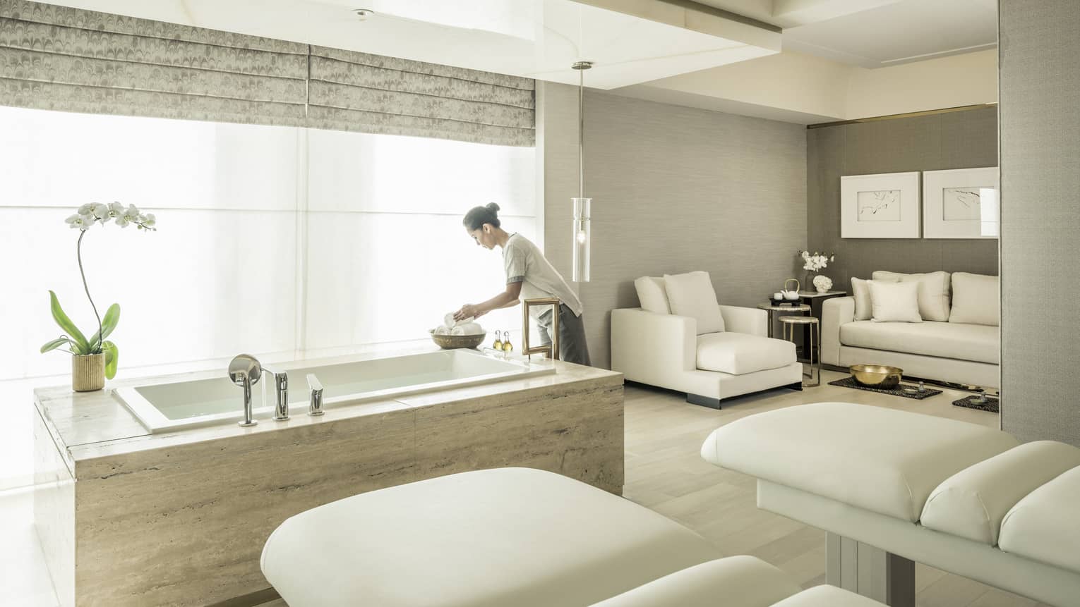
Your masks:
<path fill-rule="evenodd" d="M 49 0 L 53 3 L 615 88 L 780 52 L 779 28 L 646 0 Z M 600 8 L 618 6 L 618 10 Z M 643 17 L 636 6 L 651 9 Z M 370 13 L 361 18 L 356 9 Z"/>

